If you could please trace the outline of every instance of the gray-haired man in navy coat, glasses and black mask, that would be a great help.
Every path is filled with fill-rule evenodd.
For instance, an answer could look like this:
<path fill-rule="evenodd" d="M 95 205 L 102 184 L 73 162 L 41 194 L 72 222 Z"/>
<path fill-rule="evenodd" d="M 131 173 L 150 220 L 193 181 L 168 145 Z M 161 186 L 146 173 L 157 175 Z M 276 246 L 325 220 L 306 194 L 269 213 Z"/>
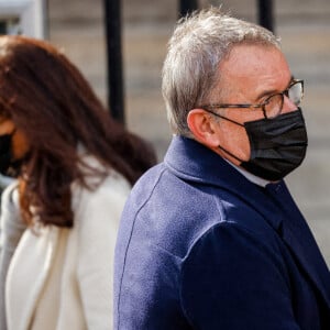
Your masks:
<path fill-rule="evenodd" d="M 163 94 L 174 138 L 133 188 L 114 329 L 330 329 L 330 275 L 283 178 L 307 147 L 278 40 L 218 9 L 184 19 Z"/>

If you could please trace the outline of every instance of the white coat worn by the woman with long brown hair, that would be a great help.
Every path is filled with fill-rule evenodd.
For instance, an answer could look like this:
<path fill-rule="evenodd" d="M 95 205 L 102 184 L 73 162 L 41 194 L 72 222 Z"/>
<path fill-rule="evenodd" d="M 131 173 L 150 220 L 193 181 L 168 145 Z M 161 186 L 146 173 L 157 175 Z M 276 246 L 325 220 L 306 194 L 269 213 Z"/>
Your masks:
<path fill-rule="evenodd" d="M 94 191 L 73 185 L 73 229 L 48 226 L 24 232 L 7 275 L 9 330 L 112 329 L 113 253 L 130 188 L 114 170 Z M 62 268 L 52 288 L 58 304 L 44 304 L 35 327 L 35 310 L 42 294 L 50 289 L 59 244 L 64 246 Z M 47 317 L 54 314 L 55 318 Z"/>

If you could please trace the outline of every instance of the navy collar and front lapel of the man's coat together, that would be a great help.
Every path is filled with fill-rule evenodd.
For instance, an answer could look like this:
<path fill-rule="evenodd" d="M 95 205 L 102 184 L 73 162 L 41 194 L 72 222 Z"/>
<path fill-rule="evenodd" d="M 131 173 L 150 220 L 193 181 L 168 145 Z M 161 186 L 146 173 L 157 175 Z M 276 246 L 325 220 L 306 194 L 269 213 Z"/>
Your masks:
<path fill-rule="evenodd" d="M 260 187 L 211 150 L 182 136 L 173 139 L 164 163 L 176 176 L 229 190 L 261 213 L 283 239 L 330 309 L 329 270 L 283 180 Z"/>

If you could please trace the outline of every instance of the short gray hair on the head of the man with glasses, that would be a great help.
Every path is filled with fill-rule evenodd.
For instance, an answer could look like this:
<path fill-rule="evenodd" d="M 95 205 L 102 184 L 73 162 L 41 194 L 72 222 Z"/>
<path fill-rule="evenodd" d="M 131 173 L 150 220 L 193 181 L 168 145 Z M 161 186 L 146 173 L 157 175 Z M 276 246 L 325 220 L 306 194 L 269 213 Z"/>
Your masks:
<path fill-rule="evenodd" d="M 220 8 L 183 18 L 168 42 L 162 91 L 175 134 L 191 136 L 188 112 L 205 103 L 220 81 L 219 63 L 237 44 L 280 47 L 268 30 L 222 13 Z"/>

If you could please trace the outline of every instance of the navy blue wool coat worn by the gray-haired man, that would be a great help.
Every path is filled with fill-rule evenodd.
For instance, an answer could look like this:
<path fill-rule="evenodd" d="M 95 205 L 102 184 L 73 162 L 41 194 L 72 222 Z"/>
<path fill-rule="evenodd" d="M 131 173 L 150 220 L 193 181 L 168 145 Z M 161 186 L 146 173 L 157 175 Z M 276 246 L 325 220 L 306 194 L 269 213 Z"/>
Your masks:
<path fill-rule="evenodd" d="M 134 186 L 114 267 L 114 329 L 330 329 L 329 270 L 285 183 L 189 139 Z"/>

